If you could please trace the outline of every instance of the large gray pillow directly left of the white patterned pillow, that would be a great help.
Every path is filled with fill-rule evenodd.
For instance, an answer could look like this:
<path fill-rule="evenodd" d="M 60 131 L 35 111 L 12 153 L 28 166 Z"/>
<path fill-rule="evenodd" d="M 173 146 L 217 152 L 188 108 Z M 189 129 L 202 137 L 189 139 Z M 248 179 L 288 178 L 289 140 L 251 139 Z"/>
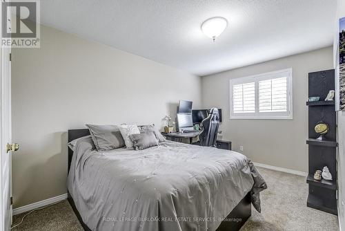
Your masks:
<path fill-rule="evenodd" d="M 125 146 L 124 138 L 117 125 L 86 124 L 97 151 L 118 149 Z"/>

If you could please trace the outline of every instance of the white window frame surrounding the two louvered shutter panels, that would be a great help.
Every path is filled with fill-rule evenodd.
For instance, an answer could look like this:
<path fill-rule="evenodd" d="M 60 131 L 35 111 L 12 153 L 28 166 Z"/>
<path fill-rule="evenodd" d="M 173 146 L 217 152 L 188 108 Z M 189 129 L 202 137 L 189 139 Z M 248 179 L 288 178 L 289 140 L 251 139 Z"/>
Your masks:
<path fill-rule="evenodd" d="M 286 112 L 259 112 L 259 81 L 279 78 L 278 75 L 286 76 L 287 97 Z M 255 112 L 234 113 L 233 111 L 233 86 L 255 82 Z M 259 75 L 238 77 L 230 79 L 230 120 L 293 120 L 293 68 L 285 68 L 279 71 L 271 71 Z"/>

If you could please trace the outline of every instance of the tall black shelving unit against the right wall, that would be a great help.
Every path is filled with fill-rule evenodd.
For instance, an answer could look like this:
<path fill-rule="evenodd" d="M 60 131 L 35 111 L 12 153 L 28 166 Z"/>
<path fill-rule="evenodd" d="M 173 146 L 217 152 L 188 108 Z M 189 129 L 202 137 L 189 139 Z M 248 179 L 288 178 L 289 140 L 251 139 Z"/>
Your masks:
<path fill-rule="evenodd" d="M 308 201 L 307 206 L 337 215 L 337 136 L 334 101 L 324 101 L 328 91 L 335 89 L 335 71 L 309 73 L 308 97 L 319 96 L 319 101 L 306 102 L 308 105 Z M 328 124 L 324 140 L 317 140 L 319 134 L 314 130 L 317 122 Z M 314 180 L 316 170 L 327 166 L 333 181 Z"/>

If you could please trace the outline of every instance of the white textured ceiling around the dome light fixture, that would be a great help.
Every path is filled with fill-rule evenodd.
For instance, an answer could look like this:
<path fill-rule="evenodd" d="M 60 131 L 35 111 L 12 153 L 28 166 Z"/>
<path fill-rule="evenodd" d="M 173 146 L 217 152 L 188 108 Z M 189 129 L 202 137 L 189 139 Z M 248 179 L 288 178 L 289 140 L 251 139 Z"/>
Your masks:
<path fill-rule="evenodd" d="M 208 75 L 331 46 L 336 0 L 43 0 L 41 23 Z M 228 28 L 215 43 L 210 17 Z"/>

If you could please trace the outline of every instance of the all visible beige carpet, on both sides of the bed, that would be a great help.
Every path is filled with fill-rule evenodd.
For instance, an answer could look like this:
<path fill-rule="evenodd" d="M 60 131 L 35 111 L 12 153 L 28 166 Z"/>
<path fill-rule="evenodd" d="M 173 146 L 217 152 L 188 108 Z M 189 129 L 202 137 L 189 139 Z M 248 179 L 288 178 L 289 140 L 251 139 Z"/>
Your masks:
<path fill-rule="evenodd" d="M 308 194 L 306 178 L 258 169 L 268 184 L 268 190 L 262 192 L 262 213 L 259 214 L 253 209 L 252 216 L 241 231 L 339 230 L 337 216 L 306 207 Z M 19 223 L 24 214 L 14 216 L 13 224 Z M 62 201 L 43 210 L 32 212 L 26 216 L 21 225 L 12 230 L 78 231 L 83 229 L 68 201 Z"/>

